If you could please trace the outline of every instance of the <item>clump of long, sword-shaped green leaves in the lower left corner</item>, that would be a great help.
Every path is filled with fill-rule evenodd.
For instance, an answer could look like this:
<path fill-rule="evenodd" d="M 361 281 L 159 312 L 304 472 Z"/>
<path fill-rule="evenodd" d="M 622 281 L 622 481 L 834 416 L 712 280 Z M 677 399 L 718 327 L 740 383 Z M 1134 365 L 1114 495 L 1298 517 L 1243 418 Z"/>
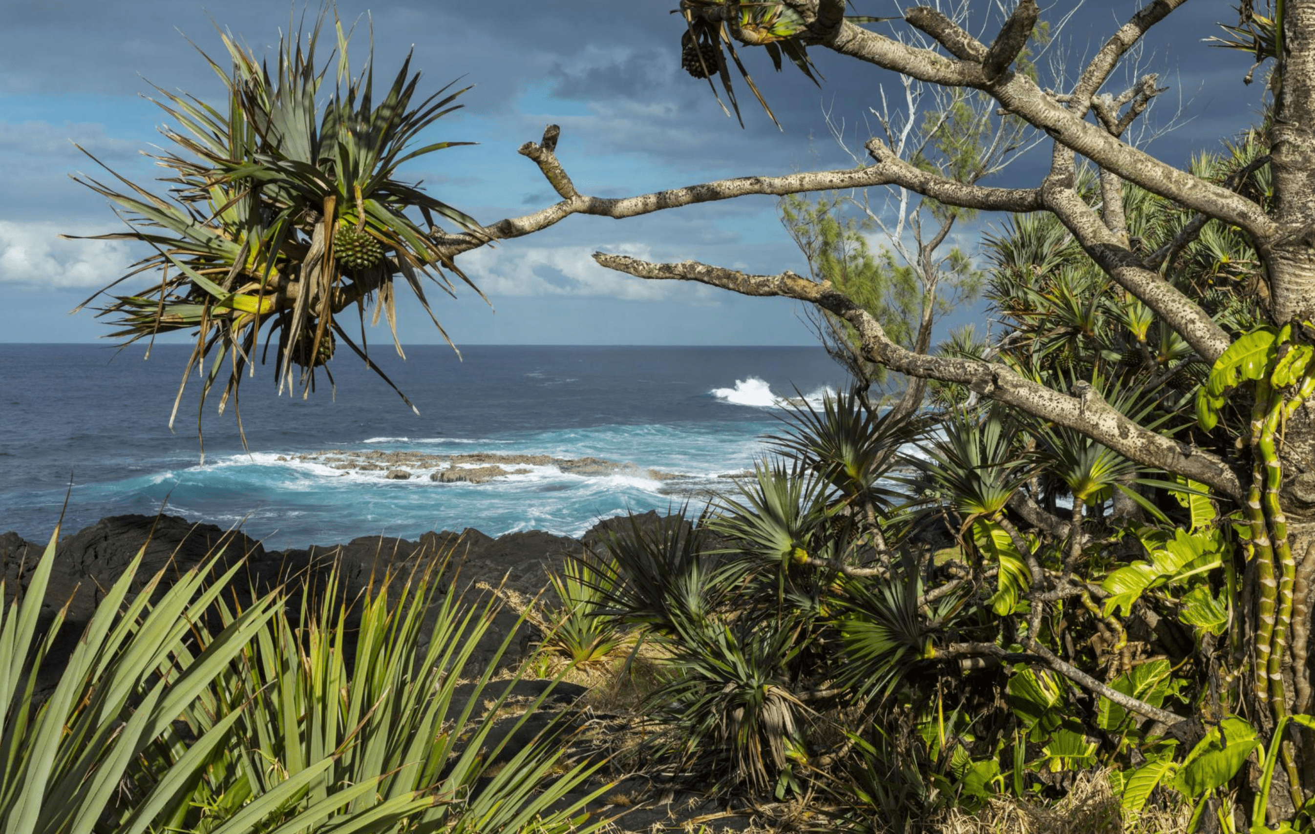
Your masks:
<path fill-rule="evenodd" d="M 497 656 L 468 667 L 494 605 L 443 595 L 446 559 L 396 600 L 385 579 L 358 602 L 359 621 L 335 577 L 318 601 L 305 591 L 289 608 L 275 592 L 234 612 L 222 599 L 241 566 L 214 576 L 220 554 L 167 589 L 162 571 L 130 595 L 134 562 L 38 699 L 37 671 L 62 618 L 38 634 L 55 541 L 0 616 L 4 831 L 604 825 L 583 814 L 592 796 L 567 797 L 596 766 L 560 762 L 558 725 L 508 747 L 526 720 L 497 724 L 515 681 L 489 693 Z"/>

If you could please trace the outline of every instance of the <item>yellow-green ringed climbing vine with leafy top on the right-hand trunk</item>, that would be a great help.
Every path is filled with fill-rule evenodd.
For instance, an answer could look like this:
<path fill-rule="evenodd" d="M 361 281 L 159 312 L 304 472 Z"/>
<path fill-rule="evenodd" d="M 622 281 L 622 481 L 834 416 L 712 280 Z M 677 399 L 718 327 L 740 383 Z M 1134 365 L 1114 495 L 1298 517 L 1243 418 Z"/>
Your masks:
<path fill-rule="evenodd" d="M 1197 399 L 1202 428 L 1212 429 L 1226 393 L 1244 383 L 1253 387 L 1245 552 L 1248 563 L 1255 566 L 1257 584 L 1255 696 L 1279 722 L 1287 716 L 1282 667 L 1297 581 L 1297 559 L 1279 501 L 1283 485 L 1279 443 L 1287 420 L 1315 393 L 1315 367 L 1311 367 L 1315 346 L 1295 342 L 1293 335 L 1293 325 L 1285 325 L 1260 328 L 1241 337 L 1215 362 Z M 1283 745 L 1282 754 L 1295 791 L 1299 783 L 1290 745 Z"/>

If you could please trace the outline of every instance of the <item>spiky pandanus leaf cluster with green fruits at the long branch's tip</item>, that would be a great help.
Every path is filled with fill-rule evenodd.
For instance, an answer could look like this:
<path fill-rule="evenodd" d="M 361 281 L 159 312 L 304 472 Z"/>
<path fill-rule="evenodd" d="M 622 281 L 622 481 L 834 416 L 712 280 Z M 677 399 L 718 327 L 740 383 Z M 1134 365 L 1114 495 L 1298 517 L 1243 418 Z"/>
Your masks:
<path fill-rule="evenodd" d="M 401 353 L 394 283 L 406 284 L 441 333 L 425 284 L 451 292 L 451 275 L 473 288 L 430 235 L 439 221 L 479 224 L 398 171 L 468 145 L 421 143 L 460 107 L 454 103 L 466 89 L 450 84 L 419 95 L 410 57 L 376 89 L 372 50 L 354 68 L 350 33 L 333 20 L 334 54 L 323 55 L 326 26 L 321 14 L 309 29 L 291 29 L 272 61 L 221 33 L 226 63 L 205 57 L 224 82 L 218 107 L 158 88 L 158 104 L 175 122 L 164 130 L 168 150 L 155 155 L 170 171 L 167 197 L 113 171 L 109 182 L 78 178 L 129 226 L 100 237 L 154 250 L 103 292 L 143 274 L 155 283 L 114 296 L 101 314 L 126 342 L 193 330 L 183 385 L 200 370 L 203 405 L 216 384 L 221 410 L 229 399 L 235 405 L 245 372 L 271 343 L 280 389 L 308 393 L 339 339 L 387 381 L 368 362 L 364 333 L 358 343 L 343 313 L 356 308 L 363 321 L 370 310 L 373 324 L 383 316 Z"/>

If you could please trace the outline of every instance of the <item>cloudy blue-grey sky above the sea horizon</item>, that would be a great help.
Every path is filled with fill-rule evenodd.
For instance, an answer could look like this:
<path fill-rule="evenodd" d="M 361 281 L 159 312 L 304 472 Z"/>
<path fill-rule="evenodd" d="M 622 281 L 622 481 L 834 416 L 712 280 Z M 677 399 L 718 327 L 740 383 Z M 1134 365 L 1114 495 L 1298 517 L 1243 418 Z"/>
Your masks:
<path fill-rule="evenodd" d="M 147 183 L 159 171 L 142 151 L 162 142 L 166 114 L 149 100 L 153 84 L 218 100 L 220 83 L 197 50 L 222 51 L 216 25 L 258 54 L 272 51 L 293 7 L 267 0 L 3 0 L 0 26 L 0 342 L 92 342 L 110 328 L 93 312 L 70 313 L 118 278 L 142 250 L 116 241 L 63 239 L 122 229 L 105 201 L 70 175 L 97 172 L 74 142 L 114 171 Z M 821 87 L 786 66 L 773 72 L 761 50 L 744 49 L 750 72 L 776 112 L 778 130 L 740 84 L 744 128 L 727 118 L 706 82 L 680 68 L 681 18 L 675 0 L 341 0 L 338 14 L 358 22 L 352 55 L 363 55 L 372 26 L 377 68 L 392 75 L 408 50 L 422 91 L 472 84 L 464 108 L 442 118 L 425 141 L 471 141 L 431 154 L 405 176 L 485 224 L 550 205 L 555 195 L 515 151 L 562 125 L 558 157 L 577 188 L 627 196 L 743 175 L 849 167 L 832 137 L 861 149 L 873 128 L 869 108 L 899 92 L 898 78 L 869 64 L 810 50 Z M 863 14 L 892 16 L 890 0 L 853 0 Z M 977 9 L 985 3 L 976 3 Z M 1089 0 L 1043 3 L 1043 20 L 1068 22 L 1041 55 L 1073 66 L 1090 55 L 1139 4 Z M 295 7 L 300 13 L 301 5 Z M 312 14 L 318 7 L 312 7 Z M 974 12 L 977 11 L 974 9 Z M 1145 38 L 1141 72 L 1156 71 L 1170 91 L 1157 99 L 1141 141 L 1184 164 L 1219 147 L 1257 118 L 1261 84 L 1245 86 L 1248 55 L 1210 49 L 1202 38 L 1236 18 L 1227 0 L 1193 0 Z M 974 21 L 973 25 L 978 25 Z M 877 26 L 909 33 L 902 21 Z M 985 34 L 989 41 L 990 32 Z M 1072 70 L 1070 70 L 1072 71 Z M 1127 86 L 1115 75 L 1109 89 Z M 1035 184 L 1043 145 L 993 184 Z M 163 185 L 155 187 L 163 191 Z M 885 195 L 873 193 L 873 205 Z M 980 237 L 999 218 L 956 229 L 952 243 L 980 255 Z M 873 235 L 880 245 L 880 234 Z M 810 345 L 794 303 L 743 299 L 685 283 L 650 283 L 596 266 L 596 250 L 654 260 L 698 259 L 753 272 L 796 270 L 806 262 L 782 229 L 776 201 L 750 197 L 614 221 L 571 217 L 546 232 L 463 255 L 459 264 L 492 307 L 466 291 L 438 299 L 435 312 L 460 345 Z M 149 279 L 137 279 L 145 285 Z M 92 303 L 95 308 L 97 303 Z M 981 317 L 967 307 L 951 322 Z M 405 304 L 404 343 L 441 339 L 418 305 Z M 384 339 L 379 333 L 373 341 Z"/>

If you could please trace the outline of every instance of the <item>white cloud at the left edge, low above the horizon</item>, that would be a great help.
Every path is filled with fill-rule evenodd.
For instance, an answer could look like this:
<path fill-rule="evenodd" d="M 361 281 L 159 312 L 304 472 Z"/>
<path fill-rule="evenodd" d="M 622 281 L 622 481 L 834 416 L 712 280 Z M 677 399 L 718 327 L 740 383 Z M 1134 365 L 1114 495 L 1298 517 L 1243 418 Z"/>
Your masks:
<path fill-rule="evenodd" d="M 124 241 L 66 241 L 50 222 L 0 220 L 0 284 L 103 287 L 135 260 Z"/>

